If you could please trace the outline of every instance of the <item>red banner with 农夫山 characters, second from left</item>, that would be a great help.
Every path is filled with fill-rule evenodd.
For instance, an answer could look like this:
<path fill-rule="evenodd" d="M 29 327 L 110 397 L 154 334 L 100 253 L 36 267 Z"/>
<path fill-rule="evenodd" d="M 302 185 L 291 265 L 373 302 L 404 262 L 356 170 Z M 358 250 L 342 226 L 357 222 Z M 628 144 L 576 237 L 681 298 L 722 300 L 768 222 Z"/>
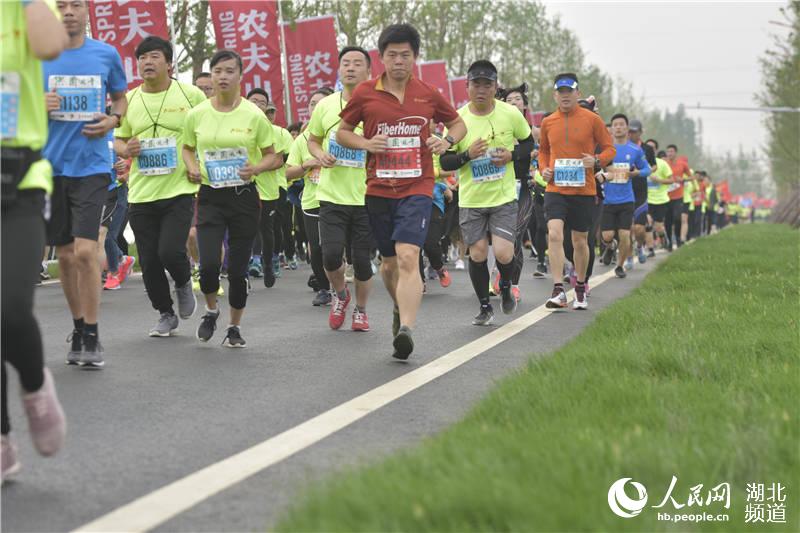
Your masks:
<path fill-rule="evenodd" d="M 217 47 L 242 56 L 242 92 L 261 87 L 275 104 L 275 122 L 286 124 L 281 77 L 278 4 L 274 0 L 210 0 Z"/>

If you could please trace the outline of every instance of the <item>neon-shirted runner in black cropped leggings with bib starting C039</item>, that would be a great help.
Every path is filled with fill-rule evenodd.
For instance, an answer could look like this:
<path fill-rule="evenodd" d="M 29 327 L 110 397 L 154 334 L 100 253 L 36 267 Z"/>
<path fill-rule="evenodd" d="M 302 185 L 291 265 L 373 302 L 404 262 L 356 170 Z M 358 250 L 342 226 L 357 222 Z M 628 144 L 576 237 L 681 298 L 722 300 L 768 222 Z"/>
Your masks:
<path fill-rule="evenodd" d="M 231 316 L 222 342 L 229 348 L 243 348 L 246 342 L 240 327 L 247 304 L 247 263 L 258 233 L 260 204 L 253 180 L 281 161 L 264 113 L 240 94 L 242 58 L 231 50 L 219 50 L 211 58 L 211 77 L 214 96 L 186 116 L 182 154 L 189 179 L 202 183 L 197 196 L 197 238 L 206 313 L 197 338 L 208 342 L 217 327 L 219 250 L 227 231 Z"/>

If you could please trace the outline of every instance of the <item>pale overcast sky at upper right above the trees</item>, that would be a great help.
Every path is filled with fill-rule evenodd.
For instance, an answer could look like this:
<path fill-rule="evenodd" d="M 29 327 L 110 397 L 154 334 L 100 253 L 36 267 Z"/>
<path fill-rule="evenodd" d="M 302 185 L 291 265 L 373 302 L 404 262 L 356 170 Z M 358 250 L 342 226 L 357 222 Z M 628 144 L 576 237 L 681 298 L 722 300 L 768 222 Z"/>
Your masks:
<path fill-rule="evenodd" d="M 590 62 L 633 83 L 648 105 L 754 107 L 760 57 L 789 29 L 785 2 L 545 2 L 574 30 Z M 602 102 L 600 103 L 602 106 Z M 703 145 L 746 150 L 765 142 L 763 113 L 688 111 L 703 119 Z M 644 125 L 647 130 L 647 124 Z M 666 141 L 666 139 L 664 139 Z"/>

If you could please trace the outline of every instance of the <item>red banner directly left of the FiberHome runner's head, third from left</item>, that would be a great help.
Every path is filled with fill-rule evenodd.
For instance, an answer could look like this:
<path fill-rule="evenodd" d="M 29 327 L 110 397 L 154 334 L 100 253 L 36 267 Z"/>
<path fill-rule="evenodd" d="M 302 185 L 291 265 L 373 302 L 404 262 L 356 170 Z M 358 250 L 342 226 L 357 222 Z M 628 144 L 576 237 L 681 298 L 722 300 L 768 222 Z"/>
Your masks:
<path fill-rule="evenodd" d="M 336 85 L 339 51 L 333 15 L 298 20 L 294 29 L 286 24 L 283 34 L 289 70 L 290 122 L 307 122 L 311 93 Z"/>

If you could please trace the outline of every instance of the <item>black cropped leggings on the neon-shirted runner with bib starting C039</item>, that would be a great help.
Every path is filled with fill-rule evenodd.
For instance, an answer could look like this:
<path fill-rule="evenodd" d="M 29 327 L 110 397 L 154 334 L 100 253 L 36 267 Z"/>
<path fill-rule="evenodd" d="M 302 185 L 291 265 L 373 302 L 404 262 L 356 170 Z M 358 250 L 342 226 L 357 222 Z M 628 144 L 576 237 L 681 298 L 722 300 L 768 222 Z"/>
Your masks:
<path fill-rule="evenodd" d="M 212 189 L 197 195 L 197 244 L 200 249 L 200 290 L 219 290 L 219 250 L 228 232 L 228 302 L 234 309 L 247 304 L 247 267 L 258 232 L 260 202 L 255 184 Z"/>

